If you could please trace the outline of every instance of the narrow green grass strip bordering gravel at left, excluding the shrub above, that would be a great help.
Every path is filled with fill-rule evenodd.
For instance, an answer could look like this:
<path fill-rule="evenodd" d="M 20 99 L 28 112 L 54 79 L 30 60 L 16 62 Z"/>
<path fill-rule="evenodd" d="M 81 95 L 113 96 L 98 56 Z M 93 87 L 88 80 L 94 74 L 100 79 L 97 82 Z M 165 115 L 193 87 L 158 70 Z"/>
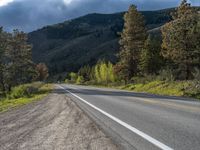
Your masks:
<path fill-rule="evenodd" d="M 41 100 L 52 90 L 53 86 L 51 84 L 43 84 L 39 87 L 38 92 L 31 94 L 30 96 L 22 96 L 20 98 L 4 98 L 0 100 L 0 112 L 8 111 L 12 108 L 19 107 L 22 105 L 29 104 L 34 101 Z M 11 93 L 12 95 L 12 93 Z"/>

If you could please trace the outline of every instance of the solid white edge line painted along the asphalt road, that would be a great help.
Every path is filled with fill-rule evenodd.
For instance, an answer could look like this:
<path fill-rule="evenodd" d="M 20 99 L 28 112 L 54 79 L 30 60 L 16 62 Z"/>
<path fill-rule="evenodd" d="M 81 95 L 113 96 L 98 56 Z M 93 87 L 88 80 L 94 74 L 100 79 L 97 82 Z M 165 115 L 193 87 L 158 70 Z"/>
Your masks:
<path fill-rule="evenodd" d="M 122 120 L 110 115 L 109 113 L 101 110 L 100 108 L 94 106 L 93 104 L 90 104 L 89 102 L 87 102 L 86 100 L 84 100 L 83 98 L 79 97 L 78 95 L 66 90 L 64 87 L 58 85 L 60 88 L 62 88 L 63 90 L 65 90 L 66 92 L 70 93 L 71 95 L 73 95 L 74 97 L 78 98 L 79 100 L 81 100 L 82 102 L 86 103 L 87 105 L 89 105 L 90 107 L 92 107 L 93 109 L 101 112 L 102 114 L 104 114 L 105 116 L 107 116 L 108 118 L 114 120 L 115 122 L 119 123 L 120 125 L 124 126 L 125 128 L 131 130 L 132 132 L 134 132 L 135 134 L 143 137 L 145 140 L 149 141 L 150 143 L 154 144 L 155 146 L 163 149 L 163 150 L 173 150 L 172 148 L 170 148 L 169 146 L 159 142 L 158 140 L 152 138 L 151 136 L 145 134 L 144 132 L 132 127 L 131 125 L 123 122 Z"/>

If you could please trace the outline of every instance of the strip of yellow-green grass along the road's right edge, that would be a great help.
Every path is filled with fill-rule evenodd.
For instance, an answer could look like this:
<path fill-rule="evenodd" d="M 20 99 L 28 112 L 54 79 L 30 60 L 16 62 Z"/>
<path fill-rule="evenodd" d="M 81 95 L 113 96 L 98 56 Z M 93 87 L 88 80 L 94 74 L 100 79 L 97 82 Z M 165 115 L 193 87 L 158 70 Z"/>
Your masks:
<path fill-rule="evenodd" d="M 92 85 L 95 87 L 108 87 L 134 92 L 144 92 L 156 95 L 190 97 L 200 100 L 200 88 L 199 86 L 196 86 L 194 81 L 154 80 L 146 83 L 131 83 L 127 85 L 122 85 L 120 83 L 110 83 L 107 85 L 97 83 L 86 83 L 85 85 Z"/>

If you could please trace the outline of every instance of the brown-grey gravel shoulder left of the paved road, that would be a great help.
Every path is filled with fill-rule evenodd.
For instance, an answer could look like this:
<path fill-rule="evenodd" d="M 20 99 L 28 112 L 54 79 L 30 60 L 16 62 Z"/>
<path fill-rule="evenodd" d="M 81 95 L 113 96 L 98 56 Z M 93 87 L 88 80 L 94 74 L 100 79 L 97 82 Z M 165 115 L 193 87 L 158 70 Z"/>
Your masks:
<path fill-rule="evenodd" d="M 118 147 L 59 90 L 0 114 L 0 150 L 116 150 Z"/>

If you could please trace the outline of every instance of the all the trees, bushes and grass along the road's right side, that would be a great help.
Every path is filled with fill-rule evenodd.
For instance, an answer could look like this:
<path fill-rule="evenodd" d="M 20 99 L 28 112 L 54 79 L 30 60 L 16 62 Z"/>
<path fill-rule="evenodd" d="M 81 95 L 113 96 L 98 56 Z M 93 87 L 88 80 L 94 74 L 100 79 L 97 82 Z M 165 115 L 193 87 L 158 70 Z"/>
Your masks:
<path fill-rule="evenodd" d="M 200 99 L 200 14 L 186 0 L 161 28 L 148 33 L 131 5 L 124 16 L 118 62 L 99 60 L 67 75 L 65 82 Z"/>

